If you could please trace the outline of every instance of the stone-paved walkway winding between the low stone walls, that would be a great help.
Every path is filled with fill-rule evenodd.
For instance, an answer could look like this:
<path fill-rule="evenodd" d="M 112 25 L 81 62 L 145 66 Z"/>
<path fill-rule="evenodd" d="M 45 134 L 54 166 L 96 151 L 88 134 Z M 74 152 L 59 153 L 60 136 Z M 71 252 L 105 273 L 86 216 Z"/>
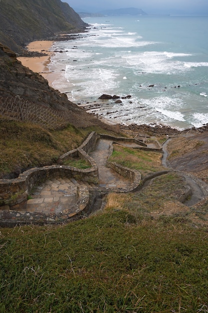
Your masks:
<path fill-rule="evenodd" d="M 99 139 L 95 150 L 90 153 L 98 166 L 99 186 L 109 189 L 129 187 L 132 183 L 129 179 L 106 167 L 111 142 L 111 140 Z M 77 200 L 77 187 L 83 184 L 88 188 L 95 186 L 80 180 L 76 181 L 74 178 L 48 179 L 31 193 L 32 198 L 27 200 L 27 211 L 50 214 L 72 208 Z"/>

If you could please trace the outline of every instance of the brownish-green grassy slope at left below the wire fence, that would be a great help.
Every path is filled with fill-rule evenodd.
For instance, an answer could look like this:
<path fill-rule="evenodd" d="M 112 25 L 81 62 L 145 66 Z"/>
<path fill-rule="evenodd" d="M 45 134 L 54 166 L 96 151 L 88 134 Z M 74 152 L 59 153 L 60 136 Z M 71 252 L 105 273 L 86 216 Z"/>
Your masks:
<path fill-rule="evenodd" d="M 49 131 L 29 122 L 0 118 L 0 178 L 56 163 L 60 155 L 77 148 L 92 130 L 101 132 L 100 128 L 78 129 L 71 124 Z"/>

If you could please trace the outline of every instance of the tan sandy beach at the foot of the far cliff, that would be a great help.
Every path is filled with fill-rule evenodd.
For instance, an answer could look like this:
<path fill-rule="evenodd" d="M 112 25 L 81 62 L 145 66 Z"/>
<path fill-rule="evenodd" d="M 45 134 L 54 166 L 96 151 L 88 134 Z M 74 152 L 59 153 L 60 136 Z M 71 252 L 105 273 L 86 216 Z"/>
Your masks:
<path fill-rule="evenodd" d="M 50 56 L 53 51 L 50 51 L 53 41 L 50 40 L 38 40 L 30 42 L 27 45 L 28 51 L 37 51 L 47 53 L 43 56 L 34 57 L 17 57 L 21 61 L 22 65 L 29 67 L 32 71 L 40 73 L 45 79 L 48 80 L 49 85 L 56 79 L 57 73 L 52 73 L 49 71 L 47 64 L 50 62 Z"/>

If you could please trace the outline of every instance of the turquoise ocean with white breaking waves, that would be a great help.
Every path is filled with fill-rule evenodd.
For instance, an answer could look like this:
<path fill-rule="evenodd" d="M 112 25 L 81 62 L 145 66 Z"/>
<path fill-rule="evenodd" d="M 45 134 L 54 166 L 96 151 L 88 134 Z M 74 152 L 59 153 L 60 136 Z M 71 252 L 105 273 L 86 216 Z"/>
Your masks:
<path fill-rule="evenodd" d="M 123 124 L 178 129 L 208 123 L 208 16 L 105 16 L 53 44 L 53 87 Z M 61 52 L 60 52 L 61 51 Z M 101 101 L 103 93 L 122 103 Z M 99 105 L 100 103 L 100 105 Z"/>

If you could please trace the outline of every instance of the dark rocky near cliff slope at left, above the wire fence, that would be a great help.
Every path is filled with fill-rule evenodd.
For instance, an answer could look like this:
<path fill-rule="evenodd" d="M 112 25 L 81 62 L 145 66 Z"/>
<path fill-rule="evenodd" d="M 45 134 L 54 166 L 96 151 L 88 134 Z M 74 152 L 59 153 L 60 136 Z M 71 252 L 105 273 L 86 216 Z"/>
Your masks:
<path fill-rule="evenodd" d="M 82 112 L 65 94 L 51 88 L 44 77 L 23 66 L 14 52 L 0 44 L 0 98 L 15 95 L 55 109 Z"/>

